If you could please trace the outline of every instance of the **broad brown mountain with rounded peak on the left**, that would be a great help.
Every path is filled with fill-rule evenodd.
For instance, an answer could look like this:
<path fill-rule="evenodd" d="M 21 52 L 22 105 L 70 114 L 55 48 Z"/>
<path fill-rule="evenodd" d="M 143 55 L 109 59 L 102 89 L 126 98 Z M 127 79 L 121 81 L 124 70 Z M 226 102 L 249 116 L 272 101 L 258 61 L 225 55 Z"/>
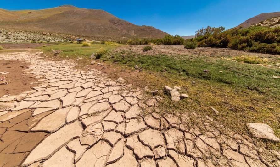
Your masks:
<path fill-rule="evenodd" d="M 154 27 L 138 26 L 103 10 L 72 5 L 42 10 L 0 9 L 0 28 L 87 37 L 162 38 L 167 35 Z"/>

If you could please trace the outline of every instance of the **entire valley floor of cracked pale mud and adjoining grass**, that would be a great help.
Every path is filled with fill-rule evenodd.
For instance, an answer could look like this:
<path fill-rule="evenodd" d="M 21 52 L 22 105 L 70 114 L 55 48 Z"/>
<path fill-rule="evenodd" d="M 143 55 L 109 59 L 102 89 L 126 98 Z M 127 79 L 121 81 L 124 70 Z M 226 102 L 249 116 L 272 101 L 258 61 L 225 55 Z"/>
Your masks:
<path fill-rule="evenodd" d="M 92 63 L 100 47 L 111 51 Z M 178 55 L 161 46 L 148 54 L 143 46 L 116 47 L 0 52 L 1 61 L 28 63 L 22 74 L 37 84 L 0 98 L 1 166 L 280 165 L 279 142 L 254 138 L 245 126 L 266 123 L 280 136 L 277 56 L 263 54 L 274 62 L 263 67 L 220 59 L 214 50 L 205 58 L 204 48 Z M 189 98 L 171 101 L 164 85 L 180 86 Z"/>

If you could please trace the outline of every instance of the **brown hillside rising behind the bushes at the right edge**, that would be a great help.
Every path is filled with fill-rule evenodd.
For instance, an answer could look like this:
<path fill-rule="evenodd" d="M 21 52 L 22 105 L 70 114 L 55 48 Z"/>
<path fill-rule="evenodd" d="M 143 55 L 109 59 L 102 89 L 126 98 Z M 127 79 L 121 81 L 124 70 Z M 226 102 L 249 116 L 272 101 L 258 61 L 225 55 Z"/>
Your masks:
<path fill-rule="evenodd" d="M 272 12 L 272 13 L 261 13 L 255 17 L 249 18 L 248 20 L 244 21 L 243 23 L 239 24 L 236 27 L 247 28 L 252 25 L 258 24 L 260 22 L 264 22 L 267 19 L 280 17 L 280 12 Z"/>

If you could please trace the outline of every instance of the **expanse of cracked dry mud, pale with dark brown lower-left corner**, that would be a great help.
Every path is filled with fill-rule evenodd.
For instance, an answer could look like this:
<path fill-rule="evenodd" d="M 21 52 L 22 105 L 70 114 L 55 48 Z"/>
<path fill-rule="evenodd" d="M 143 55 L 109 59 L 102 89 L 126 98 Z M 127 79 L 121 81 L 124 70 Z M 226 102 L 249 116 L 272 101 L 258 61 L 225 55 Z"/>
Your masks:
<path fill-rule="evenodd" d="M 160 97 L 147 100 L 139 88 L 98 70 L 76 70 L 71 61 L 40 54 L 0 55 L 27 61 L 25 73 L 43 76 L 31 91 L 0 98 L 6 106 L 0 110 L 0 166 L 280 165 L 279 152 L 217 123 L 210 126 L 209 117 L 202 133 L 184 124 L 194 112 L 160 116 L 152 110 Z"/>

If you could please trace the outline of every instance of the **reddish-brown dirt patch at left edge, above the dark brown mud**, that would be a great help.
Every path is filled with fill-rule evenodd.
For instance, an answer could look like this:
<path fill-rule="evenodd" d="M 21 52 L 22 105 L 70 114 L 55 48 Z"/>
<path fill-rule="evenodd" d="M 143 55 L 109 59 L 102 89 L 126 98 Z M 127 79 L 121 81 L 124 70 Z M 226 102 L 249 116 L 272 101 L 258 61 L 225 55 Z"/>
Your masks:
<path fill-rule="evenodd" d="M 24 65 L 24 67 L 20 67 L 20 65 Z M 9 72 L 0 74 L 0 78 L 5 77 L 5 80 L 9 80 L 7 85 L 0 85 L 0 97 L 29 91 L 31 87 L 38 85 L 30 84 L 37 81 L 37 79 L 31 78 L 33 75 L 23 75 L 23 70 L 27 69 L 27 66 L 28 64 L 23 61 L 0 60 L 0 72 Z"/>

